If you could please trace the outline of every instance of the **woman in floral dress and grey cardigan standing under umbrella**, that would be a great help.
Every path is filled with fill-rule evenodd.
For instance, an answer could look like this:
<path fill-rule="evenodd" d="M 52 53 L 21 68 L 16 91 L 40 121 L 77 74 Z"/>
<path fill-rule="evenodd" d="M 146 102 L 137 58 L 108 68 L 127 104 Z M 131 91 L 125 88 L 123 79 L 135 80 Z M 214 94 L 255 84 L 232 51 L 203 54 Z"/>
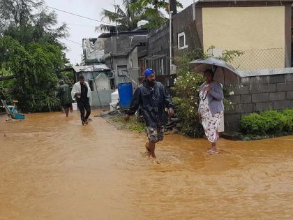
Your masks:
<path fill-rule="evenodd" d="M 200 86 L 200 105 L 198 115 L 204 127 L 206 138 L 211 142 L 211 147 L 207 149 L 207 154 L 218 154 L 216 142 L 219 138 L 218 129 L 220 119 L 223 117 L 223 89 L 220 83 L 213 80 L 213 71 L 204 72 L 204 82 Z"/>

